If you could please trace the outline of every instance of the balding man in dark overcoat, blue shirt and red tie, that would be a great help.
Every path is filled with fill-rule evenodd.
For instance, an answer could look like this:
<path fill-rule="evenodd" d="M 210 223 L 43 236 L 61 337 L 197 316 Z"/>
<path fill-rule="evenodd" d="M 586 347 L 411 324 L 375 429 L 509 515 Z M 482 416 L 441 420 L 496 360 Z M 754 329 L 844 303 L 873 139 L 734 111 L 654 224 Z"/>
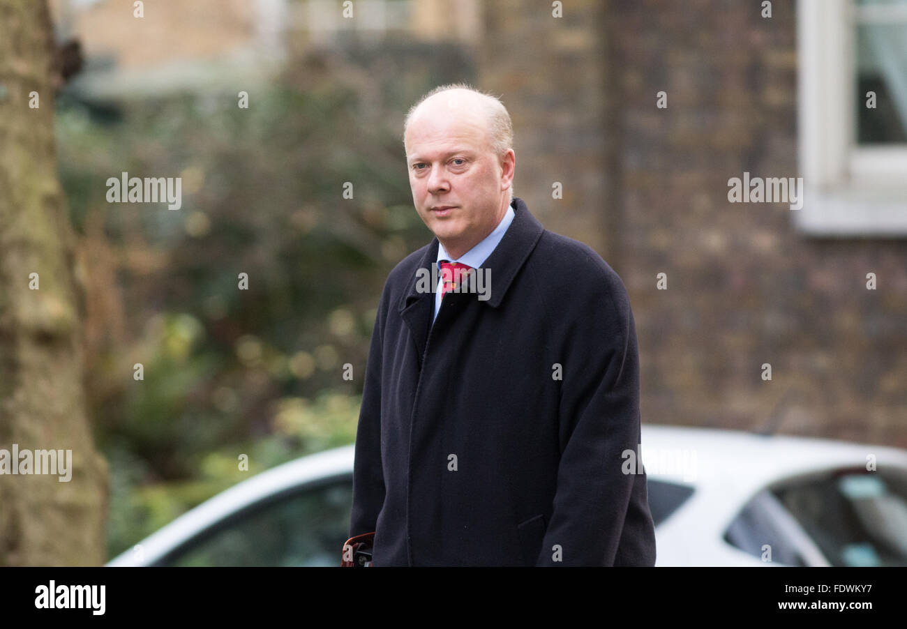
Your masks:
<path fill-rule="evenodd" d="M 623 465 L 639 362 L 619 276 L 512 197 L 497 99 L 436 88 L 404 146 L 435 237 L 381 295 L 350 537 L 375 532 L 373 566 L 653 566 L 646 475 Z M 462 290 L 480 274 L 484 295 Z"/>

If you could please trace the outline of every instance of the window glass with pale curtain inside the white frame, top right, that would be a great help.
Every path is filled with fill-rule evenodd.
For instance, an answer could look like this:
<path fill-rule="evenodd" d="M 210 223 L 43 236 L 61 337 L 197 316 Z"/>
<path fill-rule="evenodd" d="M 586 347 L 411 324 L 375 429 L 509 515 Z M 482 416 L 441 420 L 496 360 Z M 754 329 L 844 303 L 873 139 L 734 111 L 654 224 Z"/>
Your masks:
<path fill-rule="evenodd" d="M 907 0 L 856 5 L 857 143 L 907 142 Z"/>

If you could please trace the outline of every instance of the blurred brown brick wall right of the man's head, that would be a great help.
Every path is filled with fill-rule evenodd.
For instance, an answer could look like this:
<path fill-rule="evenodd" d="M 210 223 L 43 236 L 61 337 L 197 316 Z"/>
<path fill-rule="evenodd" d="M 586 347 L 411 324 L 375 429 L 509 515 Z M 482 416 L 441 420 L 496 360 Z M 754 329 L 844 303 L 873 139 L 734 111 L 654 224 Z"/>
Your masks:
<path fill-rule="evenodd" d="M 907 447 L 907 238 L 727 201 L 745 170 L 799 175 L 795 4 L 564 5 L 486 3 L 480 84 L 512 113 L 517 195 L 628 287 L 643 421 Z"/>

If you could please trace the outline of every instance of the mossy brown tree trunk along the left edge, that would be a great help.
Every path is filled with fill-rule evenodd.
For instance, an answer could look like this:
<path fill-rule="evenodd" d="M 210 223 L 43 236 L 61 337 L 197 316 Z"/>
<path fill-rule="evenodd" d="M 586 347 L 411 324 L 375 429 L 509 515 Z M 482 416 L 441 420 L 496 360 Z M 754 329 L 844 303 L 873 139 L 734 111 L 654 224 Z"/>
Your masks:
<path fill-rule="evenodd" d="M 56 172 L 52 33 L 44 0 L 0 0 L 0 566 L 99 565 L 106 556 L 107 465 L 85 411 L 81 293 Z M 59 468 L 36 474 L 36 463 L 8 473 L 26 471 L 12 460 L 14 444 L 20 457 L 64 450 L 63 463 L 71 450 L 71 479 Z"/>

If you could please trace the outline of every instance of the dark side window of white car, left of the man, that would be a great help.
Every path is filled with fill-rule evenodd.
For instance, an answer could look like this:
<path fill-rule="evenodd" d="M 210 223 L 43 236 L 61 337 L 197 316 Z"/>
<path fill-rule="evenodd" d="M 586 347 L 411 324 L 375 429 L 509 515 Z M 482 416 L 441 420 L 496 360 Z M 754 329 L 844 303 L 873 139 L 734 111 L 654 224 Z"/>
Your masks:
<path fill-rule="evenodd" d="M 239 512 L 180 547 L 163 566 L 339 566 L 353 483 L 309 485 Z"/>

